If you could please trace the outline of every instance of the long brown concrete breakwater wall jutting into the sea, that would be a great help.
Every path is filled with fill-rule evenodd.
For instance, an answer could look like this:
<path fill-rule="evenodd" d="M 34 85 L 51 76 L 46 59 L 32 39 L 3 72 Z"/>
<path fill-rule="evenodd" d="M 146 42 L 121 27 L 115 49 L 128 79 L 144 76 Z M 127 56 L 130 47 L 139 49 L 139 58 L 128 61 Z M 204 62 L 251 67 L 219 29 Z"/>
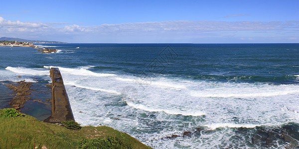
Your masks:
<path fill-rule="evenodd" d="M 72 109 L 58 68 L 50 69 L 52 78 L 52 115 L 44 120 L 48 123 L 60 123 L 74 120 Z"/>

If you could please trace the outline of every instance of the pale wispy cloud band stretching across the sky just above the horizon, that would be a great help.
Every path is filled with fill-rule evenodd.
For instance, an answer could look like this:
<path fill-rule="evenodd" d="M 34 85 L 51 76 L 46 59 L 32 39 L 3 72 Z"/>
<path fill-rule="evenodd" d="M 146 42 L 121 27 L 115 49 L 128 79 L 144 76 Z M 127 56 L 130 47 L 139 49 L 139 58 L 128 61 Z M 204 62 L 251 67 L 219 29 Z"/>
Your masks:
<path fill-rule="evenodd" d="M 255 39 L 270 41 L 272 37 L 296 42 L 299 39 L 299 21 L 163 21 L 82 26 L 10 21 L 0 17 L 0 36 L 107 43 L 207 42 L 216 39 L 223 42 L 232 39 L 254 42 Z"/>

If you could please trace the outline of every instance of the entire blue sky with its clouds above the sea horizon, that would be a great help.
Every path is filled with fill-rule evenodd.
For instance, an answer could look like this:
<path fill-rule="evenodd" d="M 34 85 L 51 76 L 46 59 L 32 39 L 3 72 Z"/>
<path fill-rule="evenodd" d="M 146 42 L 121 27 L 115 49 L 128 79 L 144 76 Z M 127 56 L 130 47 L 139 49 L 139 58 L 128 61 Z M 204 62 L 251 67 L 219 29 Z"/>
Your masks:
<path fill-rule="evenodd" d="M 68 43 L 299 43 L 299 0 L 1 0 L 0 37 Z"/>

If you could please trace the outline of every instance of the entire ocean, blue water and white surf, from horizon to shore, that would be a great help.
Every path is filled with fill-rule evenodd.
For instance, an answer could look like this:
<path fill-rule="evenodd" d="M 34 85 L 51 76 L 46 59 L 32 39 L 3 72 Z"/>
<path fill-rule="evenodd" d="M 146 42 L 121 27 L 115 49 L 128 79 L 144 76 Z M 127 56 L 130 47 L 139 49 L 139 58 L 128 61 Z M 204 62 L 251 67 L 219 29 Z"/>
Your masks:
<path fill-rule="evenodd" d="M 58 53 L 0 47 L 0 108 L 13 97 L 5 85 L 23 79 L 44 87 L 32 98 L 51 98 L 45 84 L 58 67 L 82 126 L 106 125 L 154 149 L 299 145 L 299 44 L 36 46 Z M 50 115 L 50 105 L 32 103 L 26 114 Z"/>

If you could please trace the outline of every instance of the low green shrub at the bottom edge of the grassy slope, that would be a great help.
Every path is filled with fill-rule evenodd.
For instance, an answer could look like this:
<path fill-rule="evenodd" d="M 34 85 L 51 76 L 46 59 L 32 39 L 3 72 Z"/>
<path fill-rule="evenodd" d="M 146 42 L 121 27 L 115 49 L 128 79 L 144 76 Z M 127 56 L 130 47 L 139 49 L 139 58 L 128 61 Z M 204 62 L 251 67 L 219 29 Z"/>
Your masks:
<path fill-rule="evenodd" d="M 132 145 L 125 143 L 118 137 L 109 136 L 107 139 L 82 139 L 79 142 L 80 149 L 134 149 Z"/>

